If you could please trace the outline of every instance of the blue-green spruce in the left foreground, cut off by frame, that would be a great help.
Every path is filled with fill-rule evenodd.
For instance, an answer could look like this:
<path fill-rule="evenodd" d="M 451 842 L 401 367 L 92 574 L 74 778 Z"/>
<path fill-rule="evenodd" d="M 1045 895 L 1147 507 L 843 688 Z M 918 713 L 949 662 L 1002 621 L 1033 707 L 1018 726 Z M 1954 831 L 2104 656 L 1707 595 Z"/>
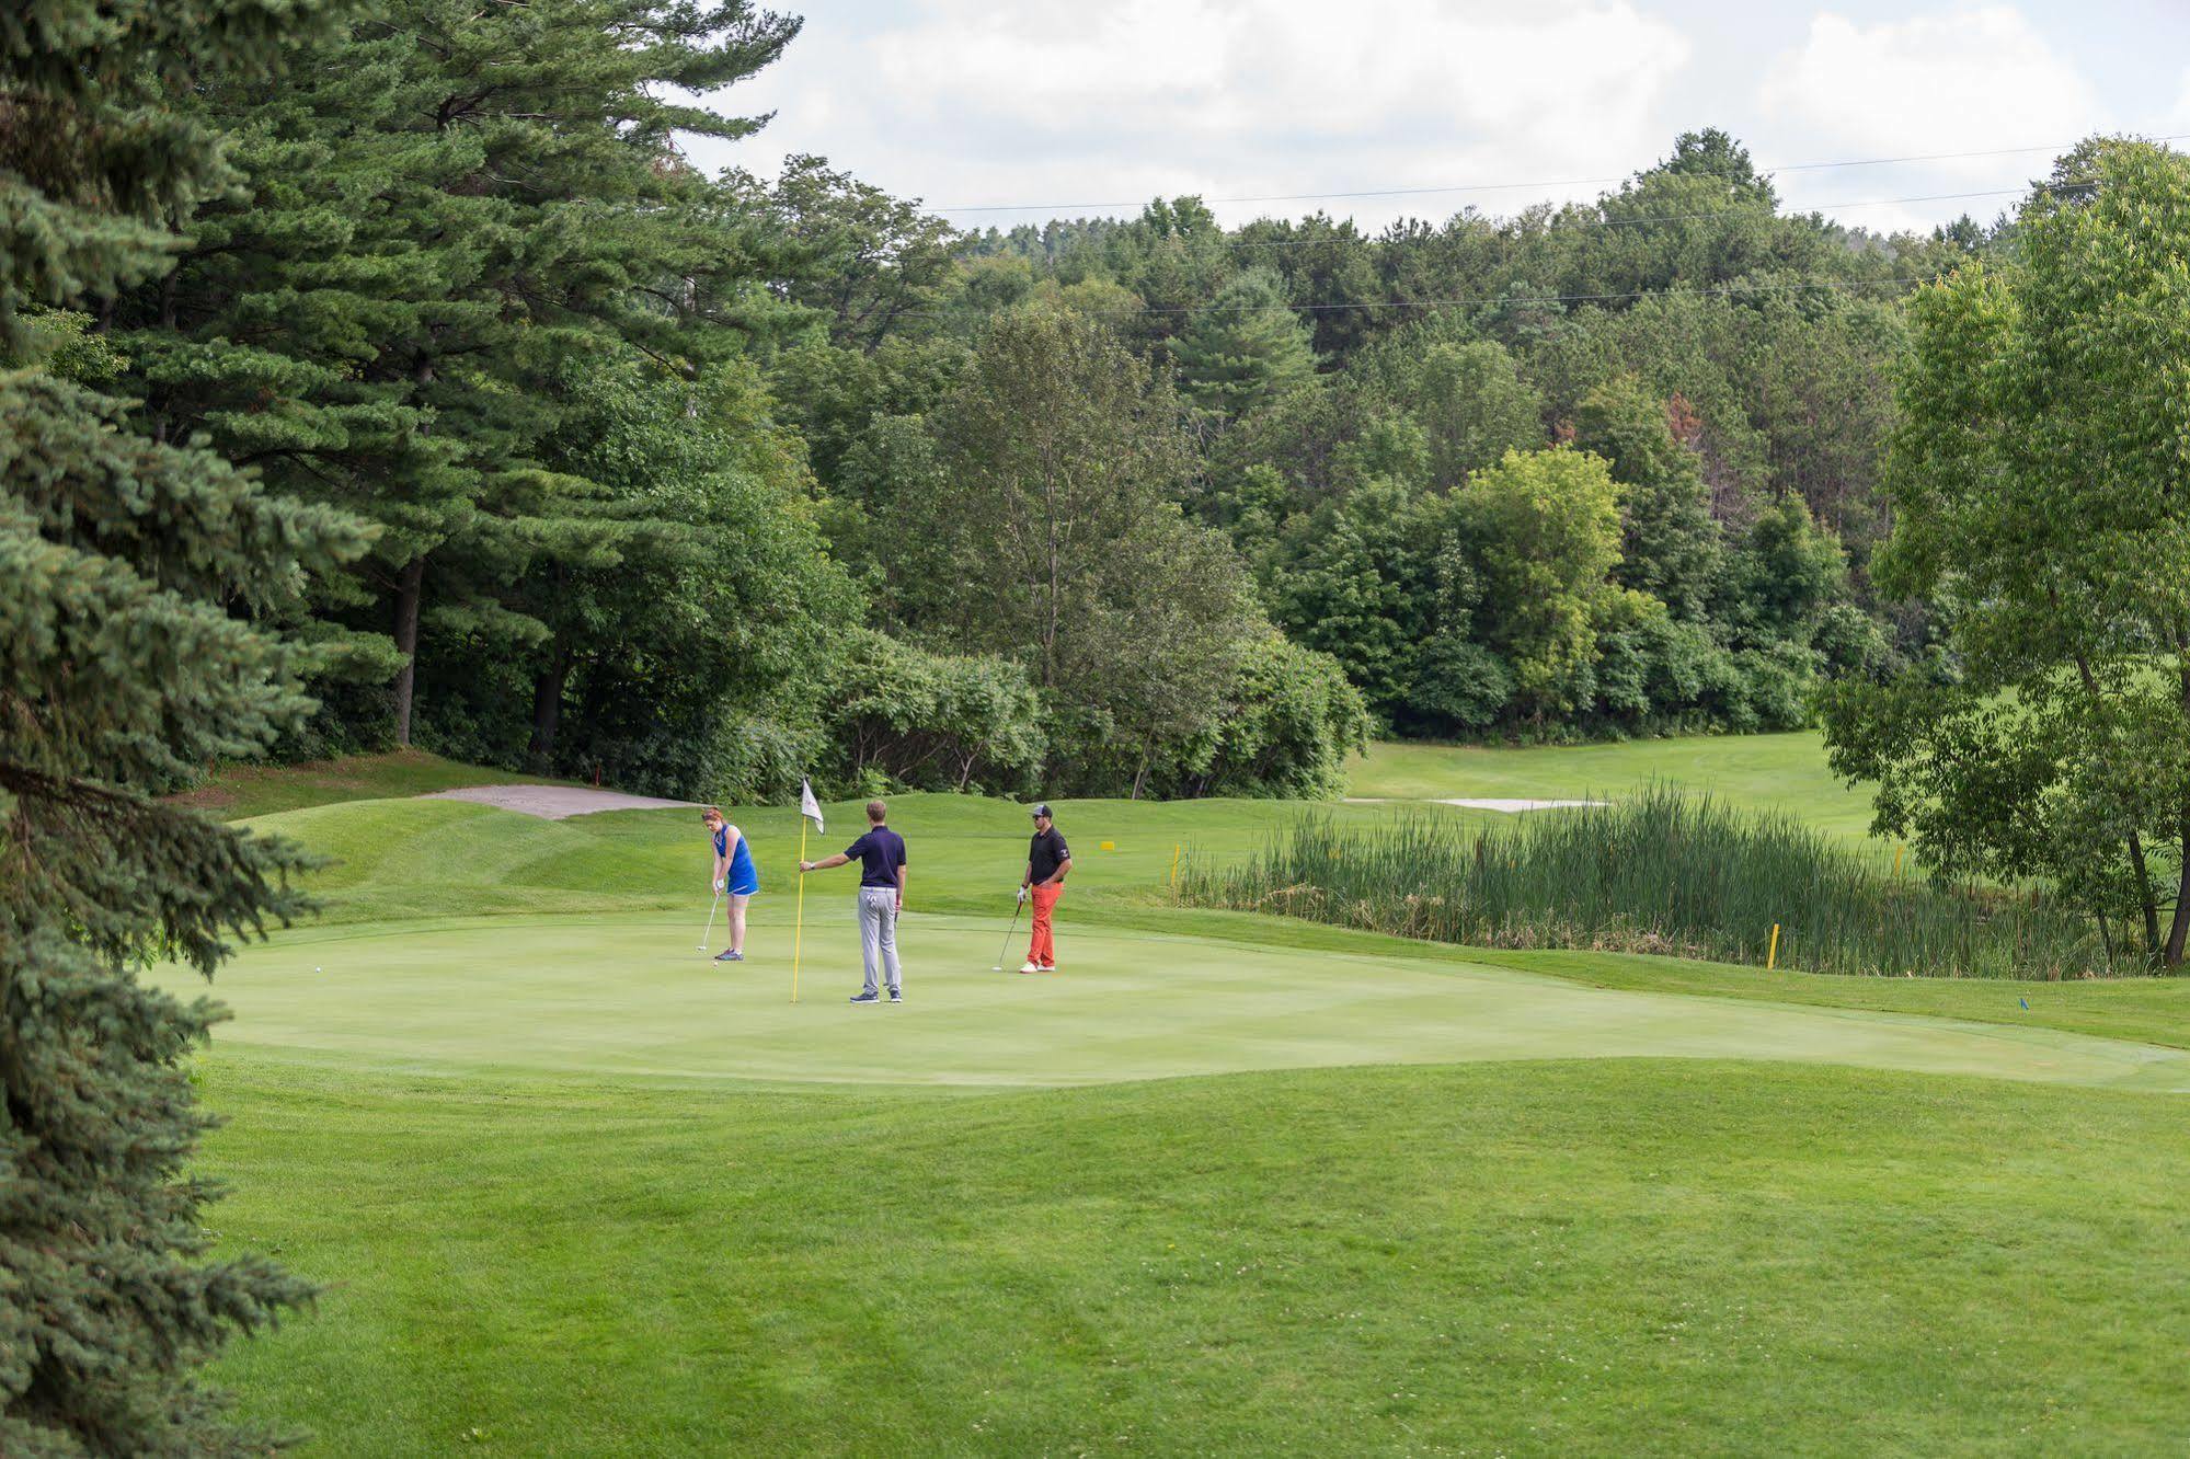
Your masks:
<path fill-rule="evenodd" d="M 127 429 L 61 370 L 42 307 L 166 265 L 164 226 L 226 184 L 166 110 L 215 66 L 267 64 L 280 0 L 33 0 L 0 13 L 0 1452 L 261 1448 L 197 1369 L 311 1288 L 208 1260 L 208 1117 L 182 1060 L 219 1010 L 136 979 L 201 973 L 298 909 L 298 854 L 155 791 L 245 754 L 307 699 L 256 618 L 364 548 L 219 458 Z M 74 364 L 72 364 L 74 361 Z M 79 368 L 79 372 L 83 372 Z"/>

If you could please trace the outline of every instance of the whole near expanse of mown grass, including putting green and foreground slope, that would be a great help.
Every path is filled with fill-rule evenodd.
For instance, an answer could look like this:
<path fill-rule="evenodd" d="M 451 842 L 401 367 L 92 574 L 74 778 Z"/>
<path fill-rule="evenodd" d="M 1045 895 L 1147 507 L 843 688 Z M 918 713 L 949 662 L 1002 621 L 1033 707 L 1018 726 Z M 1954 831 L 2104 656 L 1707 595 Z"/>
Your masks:
<path fill-rule="evenodd" d="M 848 872 L 786 997 L 786 811 L 736 813 L 738 970 L 692 953 L 685 813 L 254 822 L 337 865 L 328 920 L 215 988 L 201 1172 L 217 1251 L 331 1286 L 219 1380 L 374 1457 L 2175 1448 L 2190 981 L 1489 953 L 1163 894 L 1174 846 L 1316 815 L 1509 824 L 1062 804 L 1042 979 L 988 973 L 1025 815 L 904 797 L 911 1001 L 852 1010 Z"/>

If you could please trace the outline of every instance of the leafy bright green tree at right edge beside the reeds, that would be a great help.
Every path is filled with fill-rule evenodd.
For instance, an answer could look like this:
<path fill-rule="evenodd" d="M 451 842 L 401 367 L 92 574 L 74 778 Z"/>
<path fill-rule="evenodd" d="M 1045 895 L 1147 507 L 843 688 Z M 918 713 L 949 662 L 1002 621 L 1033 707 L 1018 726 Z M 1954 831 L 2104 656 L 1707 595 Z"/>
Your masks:
<path fill-rule="evenodd" d="M 2190 160 L 2087 145 L 2015 256 L 1912 305 L 1894 532 L 1964 677 L 1829 701 L 1835 769 L 1940 874 L 2045 874 L 2190 940 Z"/>

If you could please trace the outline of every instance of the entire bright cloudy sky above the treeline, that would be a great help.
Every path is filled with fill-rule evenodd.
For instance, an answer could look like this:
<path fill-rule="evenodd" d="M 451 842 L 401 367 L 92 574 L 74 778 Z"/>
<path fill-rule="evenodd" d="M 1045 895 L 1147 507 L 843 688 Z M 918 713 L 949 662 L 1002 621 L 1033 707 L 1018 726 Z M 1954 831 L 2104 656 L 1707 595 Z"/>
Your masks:
<path fill-rule="evenodd" d="M 710 96 L 773 118 L 692 160 L 771 177 L 819 153 L 961 228 L 1180 193 L 1224 223 L 1505 215 L 1597 197 L 1724 127 L 1789 169 L 1789 206 L 1929 230 L 2013 206 L 2091 131 L 2190 134 L 2190 0 L 773 4 L 804 13 L 799 37 Z"/>

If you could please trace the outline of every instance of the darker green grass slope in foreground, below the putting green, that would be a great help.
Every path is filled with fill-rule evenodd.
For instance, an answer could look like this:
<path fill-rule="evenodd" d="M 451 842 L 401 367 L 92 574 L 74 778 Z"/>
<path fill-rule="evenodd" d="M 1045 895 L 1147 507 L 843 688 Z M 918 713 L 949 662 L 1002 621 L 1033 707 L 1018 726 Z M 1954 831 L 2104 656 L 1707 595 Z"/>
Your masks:
<path fill-rule="evenodd" d="M 1049 1093 L 221 1060 L 355 1455 L 2170 1452 L 2172 1100 L 1625 1060 Z"/>

